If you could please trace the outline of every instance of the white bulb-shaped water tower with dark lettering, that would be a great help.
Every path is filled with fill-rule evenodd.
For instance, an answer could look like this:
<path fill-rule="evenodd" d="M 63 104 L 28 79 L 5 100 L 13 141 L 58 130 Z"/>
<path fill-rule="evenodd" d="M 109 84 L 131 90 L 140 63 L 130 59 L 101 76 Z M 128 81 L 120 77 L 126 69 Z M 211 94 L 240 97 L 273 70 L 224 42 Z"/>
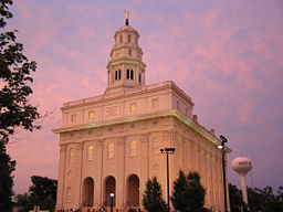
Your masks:
<path fill-rule="evenodd" d="M 247 157 L 238 157 L 232 161 L 233 170 L 241 177 L 241 189 L 243 202 L 248 204 L 245 174 L 252 169 L 252 161 Z"/>

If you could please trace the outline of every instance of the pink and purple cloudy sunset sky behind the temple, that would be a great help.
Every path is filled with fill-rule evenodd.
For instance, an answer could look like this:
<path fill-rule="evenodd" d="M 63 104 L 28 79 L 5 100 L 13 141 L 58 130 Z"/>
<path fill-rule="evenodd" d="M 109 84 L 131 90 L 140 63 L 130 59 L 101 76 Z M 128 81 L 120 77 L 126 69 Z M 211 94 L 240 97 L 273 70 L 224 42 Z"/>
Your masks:
<path fill-rule="evenodd" d="M 206 128 L 229 139 L 229 181 L 234 157 L 248 156 L 248 186 L 283 186 L 282 0 L 24 0 L 12 7 L 9 28 L 36 61 L 31 102 L 42 129 L 19 131 L 9 144 L 18 161 L 14 189 L 28 190 L 32 174 L 56 178 L 64 102 L 99 95 L 115 31 L 139 31 L 147 84 L 174 81 L 193 100 Z"/>

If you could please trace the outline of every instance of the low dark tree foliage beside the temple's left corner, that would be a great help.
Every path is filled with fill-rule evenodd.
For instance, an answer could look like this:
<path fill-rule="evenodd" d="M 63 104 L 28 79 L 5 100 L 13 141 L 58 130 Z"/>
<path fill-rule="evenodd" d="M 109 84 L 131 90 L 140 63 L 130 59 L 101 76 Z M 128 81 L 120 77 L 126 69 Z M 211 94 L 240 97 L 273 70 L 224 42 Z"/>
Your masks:
<path fill-rule="evenodd" d="M 32 176 L 31 181 L 29 193 L 15 197 L 17 205 L 21 208 L 20 212 L 28 212 L 34 205 L 39 205 L 41 210 L 54 211 L 57 181 L 40 176 Z"/>

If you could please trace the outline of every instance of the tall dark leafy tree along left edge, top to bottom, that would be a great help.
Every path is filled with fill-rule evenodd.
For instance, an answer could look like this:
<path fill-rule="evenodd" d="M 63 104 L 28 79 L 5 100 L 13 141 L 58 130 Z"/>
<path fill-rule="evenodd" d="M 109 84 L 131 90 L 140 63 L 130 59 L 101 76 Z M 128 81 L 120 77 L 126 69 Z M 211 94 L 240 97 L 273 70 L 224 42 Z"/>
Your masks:
<path fill-rule="evenodd" d="M 0 0 L 0 29 L 4 29 L 7 20 L 12 18 L 9 7 L 12 0 Z M 31 72 L 36 68 L 35 62 L 29 62 L 23 54 L 23 45 L 15 40 L 14 31 L 0 33 L 0 211 L 11 211 L 12 171 L 15 161 L 7 153 L 6 145 L 9 136 L 17 128 L 33 130 L 40 126 L 33 121 L 40 117 L 36 107 L 29 103 L 32 89 Z"/>

